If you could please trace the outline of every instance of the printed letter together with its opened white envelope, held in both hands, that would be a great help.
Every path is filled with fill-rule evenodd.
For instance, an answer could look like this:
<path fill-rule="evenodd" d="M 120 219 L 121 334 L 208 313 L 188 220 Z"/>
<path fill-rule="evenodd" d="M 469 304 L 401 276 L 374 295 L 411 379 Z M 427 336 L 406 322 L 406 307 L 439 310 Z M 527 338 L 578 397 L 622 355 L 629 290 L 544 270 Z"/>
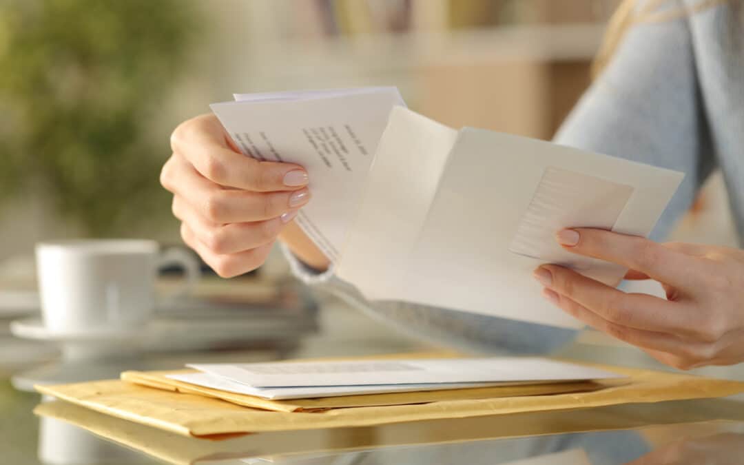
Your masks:
<path fill-rule="evenodd" d="M 236 95 L 214 113 L 246 155 L 304 165 L 298 224 L 371 300 L 579 327 L 540 296 L 559 263 L 616 286 L 626 270 L 563 250 L 562 228 L 647 236 L 682 173 L 411 112 L 397 89 Z"/>

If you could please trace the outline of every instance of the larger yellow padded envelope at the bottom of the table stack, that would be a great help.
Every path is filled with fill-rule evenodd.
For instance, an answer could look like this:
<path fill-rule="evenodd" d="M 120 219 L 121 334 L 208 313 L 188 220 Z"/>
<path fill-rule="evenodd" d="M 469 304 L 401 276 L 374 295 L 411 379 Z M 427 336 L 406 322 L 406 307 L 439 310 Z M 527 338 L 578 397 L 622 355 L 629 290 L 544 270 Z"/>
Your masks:
<path fill-rule="evenodd" d="M 234 403 L 133 385 L 121 380 L 37 386 L 57 397 L 137 423 L 187 436 L 373 426 L 417 420 L 481 417 L 528 411 L 652 403 L 744 392 L 744 382 L 682 373 L 594 365 L 629 376 L 630 382 L 597 391 L 527 397 L 442 400 L 414 405 L 331 408 L 324 411 L 266 411 Z"/>

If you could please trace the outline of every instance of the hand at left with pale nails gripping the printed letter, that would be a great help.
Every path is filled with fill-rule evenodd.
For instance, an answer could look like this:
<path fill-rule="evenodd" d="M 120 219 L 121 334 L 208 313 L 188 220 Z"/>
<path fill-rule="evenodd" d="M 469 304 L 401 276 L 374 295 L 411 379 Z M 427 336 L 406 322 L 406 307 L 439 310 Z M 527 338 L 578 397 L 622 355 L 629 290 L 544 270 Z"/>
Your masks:
<path fill-rule="evenodd" d="M 214 115 L 180 124 L 170 144 L 160 179 L 173 193 L 184 242 L 223 278 L 263 264 L 310 200 L 307 171 L 243 155 Z"/>

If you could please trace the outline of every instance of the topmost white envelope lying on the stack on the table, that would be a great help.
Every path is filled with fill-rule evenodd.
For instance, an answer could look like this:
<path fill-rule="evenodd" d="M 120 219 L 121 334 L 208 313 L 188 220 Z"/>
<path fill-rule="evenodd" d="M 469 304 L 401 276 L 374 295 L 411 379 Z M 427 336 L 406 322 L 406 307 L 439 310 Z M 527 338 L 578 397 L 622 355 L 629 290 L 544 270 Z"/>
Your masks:
<path fill-rule="evenodd" d="M 443 384 L 447 382 L 557 382 L 623 376 L 583 365 L 540 358 L 409 359 L 188 365 L 261 388 Z"/>

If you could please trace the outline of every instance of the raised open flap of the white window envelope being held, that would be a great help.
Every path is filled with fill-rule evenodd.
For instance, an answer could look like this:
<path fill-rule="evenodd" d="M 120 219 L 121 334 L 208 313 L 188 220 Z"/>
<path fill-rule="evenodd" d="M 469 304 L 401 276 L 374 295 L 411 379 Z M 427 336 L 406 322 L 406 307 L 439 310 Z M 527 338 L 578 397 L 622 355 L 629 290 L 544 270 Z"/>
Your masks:
<path fill-rule="evenodd" d="M 400 112 L 410 118 L 397 118 Z M 356 213 L 336 264 L 341 279 L 375 283 L 375 294 L 382 296 L 399 294 L 411 244 L 420 234 L 458 135 L 455 129 L 400 106 L 393 109 L 390 121 L 394 124 L 385 128 L 359 202 L 366 208 Z M 372 257 L 371 250 L 382 255 Z"/>

